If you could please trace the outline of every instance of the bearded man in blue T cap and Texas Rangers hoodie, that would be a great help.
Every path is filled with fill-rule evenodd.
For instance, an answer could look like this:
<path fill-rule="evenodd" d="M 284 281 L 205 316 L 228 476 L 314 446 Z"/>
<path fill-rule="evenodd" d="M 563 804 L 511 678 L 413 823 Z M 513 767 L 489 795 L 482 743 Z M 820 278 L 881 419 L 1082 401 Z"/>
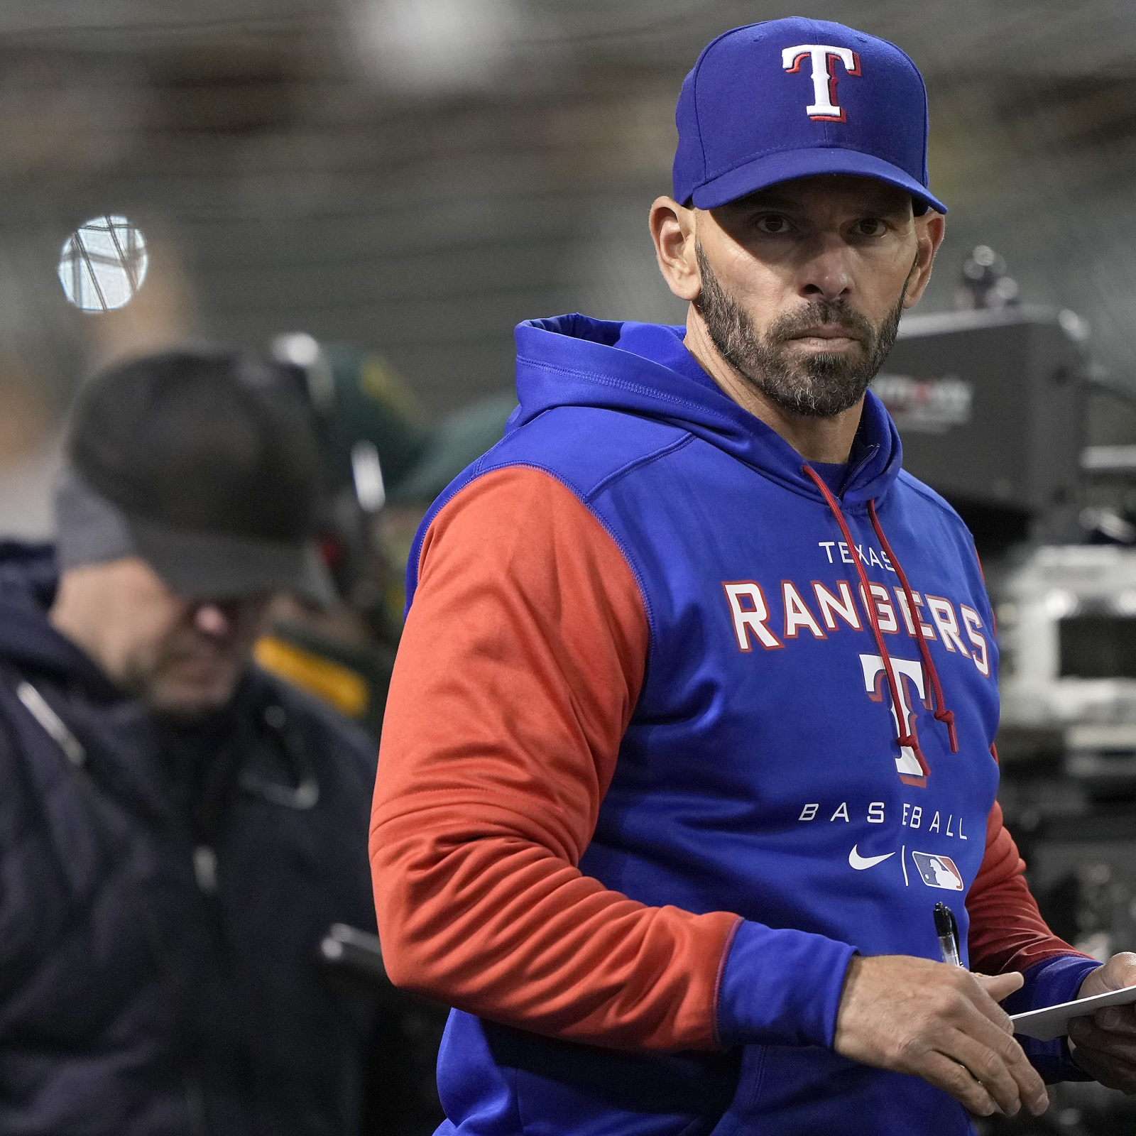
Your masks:
<path fill-rule="evenodd" d="M 456 1008 L 441 1131 L 959 1134 L 1043 1077 L 1136 1088 L 1130 1008 L 1070 1052 L 999 1004 L 1136 958 L 1026 887 L 974 542 L 867 390 L 943 236 L 922 80 L 755 24 L 677 122 L 686 325 L 523 324 L 506 437 L 411 553 L 371 864 L 392 978 Z"/>

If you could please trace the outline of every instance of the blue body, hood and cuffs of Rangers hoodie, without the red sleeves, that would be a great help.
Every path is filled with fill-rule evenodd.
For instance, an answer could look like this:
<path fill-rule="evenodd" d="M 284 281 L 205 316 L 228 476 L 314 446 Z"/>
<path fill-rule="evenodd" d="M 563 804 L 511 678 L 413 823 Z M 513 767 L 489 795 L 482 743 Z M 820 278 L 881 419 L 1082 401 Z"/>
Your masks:
<path fill-rule="evenodd" d="M 520 406 L 425 518 L 408 602 L 433 518 L 492 470 L 544 470 L 615 538 L 650 650 L 579 868 L 652 907 L 743 918 L 718 993 L 724 1052 L 615 1053 L 454 1011 L 442 1131 L 968 1133 L 945 1094 L 832 1043 L 855 951 L 939 958 L 936 901 L 968 962 L 999 713 L 974 542 L 901 469 L 874 395 L 846 470 L 810 473 L 682 335 L 520 325 Z M 1095 963 L 1064 954 L 1028 976 L 1018 1009 L 1075 996 Z M 1058 1049 L 1044 1059 L 1068 1072 Z"/>

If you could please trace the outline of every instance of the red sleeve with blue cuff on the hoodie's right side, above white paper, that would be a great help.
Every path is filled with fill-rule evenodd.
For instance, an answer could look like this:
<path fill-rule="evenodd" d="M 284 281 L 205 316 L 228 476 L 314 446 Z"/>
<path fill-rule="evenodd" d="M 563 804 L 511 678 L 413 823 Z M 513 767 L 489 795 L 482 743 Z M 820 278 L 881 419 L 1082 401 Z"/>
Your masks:
<path fill-rule="evenodd" d="M 1070 1002 L 1100 963 L 1050 930 L 1025 878 L 1026 863 L 995 802 L 986 825 L 986 855 L 967 896 L 970 966 L 984 975 L 1020 970 L 1025 985 L 1003 1003 L 1024 1013 Z M 1022 1049 L 1047 1081 L 1091 1080 L 1069 1056 L 1064 1038 L 1020 1038 Z"/>

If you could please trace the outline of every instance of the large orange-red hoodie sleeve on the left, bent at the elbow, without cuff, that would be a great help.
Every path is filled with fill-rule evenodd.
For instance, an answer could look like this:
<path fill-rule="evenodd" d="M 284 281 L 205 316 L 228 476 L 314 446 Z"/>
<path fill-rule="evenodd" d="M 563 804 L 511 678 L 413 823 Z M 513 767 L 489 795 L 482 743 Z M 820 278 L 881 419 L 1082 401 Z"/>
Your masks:
<path fill-rule="evenodd" d="M 370 858 L 392 980 L 534 1033 L 715 1047 L 738 917 L 576 867 L 643 680 L 627 561 L 562 484 L 486 474 L 437 513 L 391 682 Z"/>

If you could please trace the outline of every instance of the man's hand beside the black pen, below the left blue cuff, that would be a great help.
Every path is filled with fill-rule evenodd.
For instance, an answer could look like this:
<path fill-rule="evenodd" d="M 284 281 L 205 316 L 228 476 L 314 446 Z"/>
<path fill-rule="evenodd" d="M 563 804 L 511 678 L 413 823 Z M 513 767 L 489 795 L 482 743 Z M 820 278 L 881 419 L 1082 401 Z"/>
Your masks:
<path fill-rule="evenodd" d="M 980 1117 L 999 1109 L 1013 1116 L 1022 1104 L 1041 1116 L 1050 1103 L 1045 1085 L 997 1004 L 1021 983 L 1019 974 L 987 978 L 905 954 L 858 955 L 844 979 L 834 1047 L 922 1077 Z"/>

